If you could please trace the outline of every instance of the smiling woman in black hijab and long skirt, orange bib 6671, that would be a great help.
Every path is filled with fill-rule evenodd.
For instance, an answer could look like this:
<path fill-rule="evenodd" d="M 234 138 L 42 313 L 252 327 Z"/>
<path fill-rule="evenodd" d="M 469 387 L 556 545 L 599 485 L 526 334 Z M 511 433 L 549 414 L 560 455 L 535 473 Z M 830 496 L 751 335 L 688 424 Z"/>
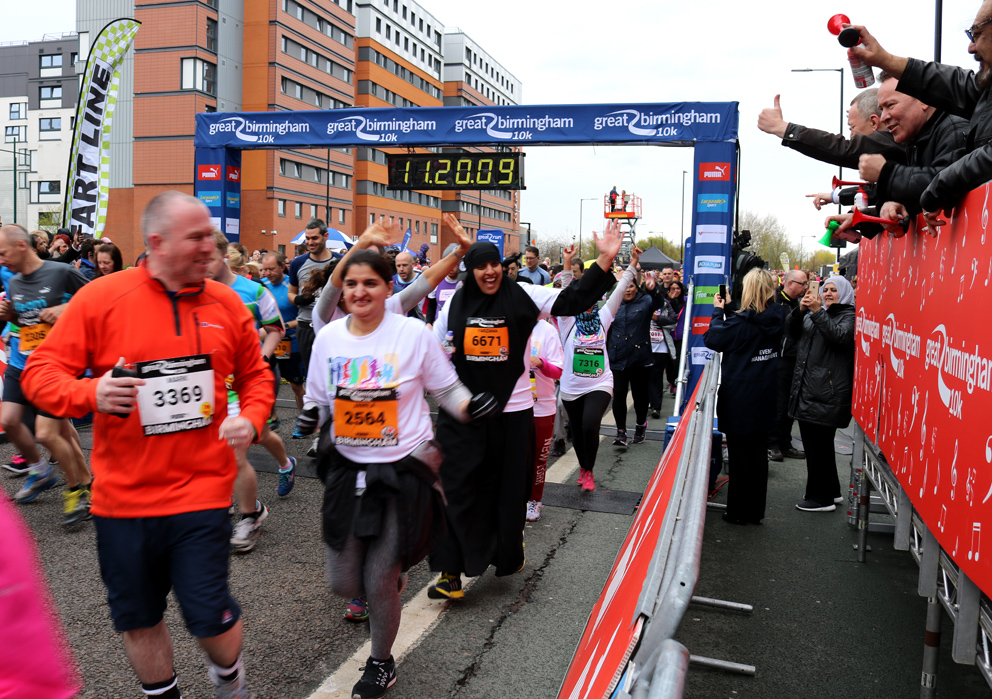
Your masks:
<path fill-rule="evenodd" d="M 445 223 L 460 230 L 458 220 Z M 528 474 L 534 463 L 534 399 L 527 372 L 527 338 L 549 315 L 573 315 L 589 308 L 615 283 L 608 270 L 620 249 L 619 226 L 595 235 L 599 258 L 567 289 L 520 285 L 504 279 L 499 250 L 474 243 L 465 255 L 468 275 L 434 324 L 434 334 L 454 348 L 459 378 L 473 392 L 491 391 L 500 415 L 486 423 L 462 425 L 444 410 L 438 441 L 445 459 L 441 479 L 448 500 L 449 535 L 430 556 L 441 573 L 429 588 L 434 599 L 458 599 L 461 574 L 496 575 L 523 569 L 523 528 Z M 448 331 L 451 336 L 448 338 Z"/>

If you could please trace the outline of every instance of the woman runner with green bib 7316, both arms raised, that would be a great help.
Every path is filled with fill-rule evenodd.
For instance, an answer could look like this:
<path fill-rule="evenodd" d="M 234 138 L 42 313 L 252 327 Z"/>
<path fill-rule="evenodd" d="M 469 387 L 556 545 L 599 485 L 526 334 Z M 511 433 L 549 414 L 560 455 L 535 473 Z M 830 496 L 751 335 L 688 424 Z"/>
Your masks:
<path fill-rule="evenodd" d="M 572 255 L 575 246 L 562 251 L 565 269 L 572 268 Z M 606 351 L 606 338 L 610 325 L 616 317 L 617 309 L 623 301 L 624 292 L 634 280 L 637 260 L 641 251 L 630 250 L 630 265 L 617 283 L 603 308 L 595 305 L 572 318 L 558 318 L 558 330 L 565 350 L 565 368 L 561 375 L 561 399 L 568 413 L 568 424 L 572 427 L 572 446 L 579 460 L 579 485 L 582 490 L 596 489 L 593 467 L 599 451 L 599 428 L 603 415 L 610 405 L 613 395 L 613 372 L 610 371 L 610 357 Z M 566 273 L 562 284 L 569 282 Z"/>

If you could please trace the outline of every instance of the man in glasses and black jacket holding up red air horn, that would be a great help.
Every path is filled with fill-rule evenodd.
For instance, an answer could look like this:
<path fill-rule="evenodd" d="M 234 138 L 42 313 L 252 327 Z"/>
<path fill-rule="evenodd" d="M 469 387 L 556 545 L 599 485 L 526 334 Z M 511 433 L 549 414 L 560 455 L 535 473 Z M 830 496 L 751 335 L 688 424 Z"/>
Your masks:
<path fill-rule="evenodd" d="M 856 26 L 863 48 L 851 49 L 871 66 L 899 79 L 899 91 L 927 104 L 970 119 L 965 155 L 941 170 L 920 197 L 931 231 L 968 191 L 992 179 L 992 0 L 982 3 L 975 22 L 965 30 L 968 53 L 978 61 L 978 72 L 915 58 L 894 56 L 864 27 Z M 886 215 L 884 212 L 883 216 Z"/>

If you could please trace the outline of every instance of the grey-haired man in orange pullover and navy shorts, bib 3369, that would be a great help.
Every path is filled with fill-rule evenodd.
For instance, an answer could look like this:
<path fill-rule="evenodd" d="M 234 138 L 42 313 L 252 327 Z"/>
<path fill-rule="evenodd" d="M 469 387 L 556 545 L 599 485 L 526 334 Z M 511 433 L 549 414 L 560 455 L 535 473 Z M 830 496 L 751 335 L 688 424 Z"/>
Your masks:
<path fill-rule="evenodd" d="M 142 689 L 181 696 L 162 617 L 173 589 L 217 696 L 247 698 L 241 610 L 227 580 L 231 447 L 261 433 L 272 375 L 247 308 L 205 279 L 215 247 L 208 209 L 164 192 L 141 228 L 145 264 L 80 290 L 28 360 L 22 387 L 54 415 L 95 413 L 100 571 Z M 99 378 L 77 379 L 87 368 Z M 127 370 L 131 376 L 114 376 Z M 225 419 L 229 375 L 241 413 Z"/>

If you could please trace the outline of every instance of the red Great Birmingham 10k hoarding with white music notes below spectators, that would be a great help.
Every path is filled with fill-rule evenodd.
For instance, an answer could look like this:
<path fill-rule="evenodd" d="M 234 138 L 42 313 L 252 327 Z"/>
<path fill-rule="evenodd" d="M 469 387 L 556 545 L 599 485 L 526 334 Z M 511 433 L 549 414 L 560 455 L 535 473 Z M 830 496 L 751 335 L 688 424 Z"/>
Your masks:
<path fill-rule="evenodd" d="M 941 547 L 992 595 L 990 187 L 936 240 L 920 218 L 905 237 L 862 241 L 854 415 Z"/>

